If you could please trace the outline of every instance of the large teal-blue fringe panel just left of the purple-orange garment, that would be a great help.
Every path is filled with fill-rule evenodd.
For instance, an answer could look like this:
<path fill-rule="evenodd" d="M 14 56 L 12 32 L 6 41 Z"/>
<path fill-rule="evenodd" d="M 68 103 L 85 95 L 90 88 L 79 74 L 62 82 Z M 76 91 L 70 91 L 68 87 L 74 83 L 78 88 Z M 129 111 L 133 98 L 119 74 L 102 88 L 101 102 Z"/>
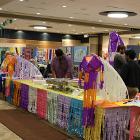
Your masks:
<path fill-rule="evenodd" d="M 77 135 L 81 138 L 83 137 L 82 110 L 83 102 L 80 100 L 71 99 L 68 133 L 71 135 Z"/>

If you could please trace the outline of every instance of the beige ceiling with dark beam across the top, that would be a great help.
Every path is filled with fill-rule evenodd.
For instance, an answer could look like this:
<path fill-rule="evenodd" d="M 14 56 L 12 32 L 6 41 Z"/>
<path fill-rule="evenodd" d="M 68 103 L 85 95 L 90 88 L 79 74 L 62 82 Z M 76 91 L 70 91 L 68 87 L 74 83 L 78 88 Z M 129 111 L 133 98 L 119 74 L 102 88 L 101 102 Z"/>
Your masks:
<path fill-rule="evenodd" d="M 94 34 L 140 28 L 139 0 L 3 0 L 0 1 L 0 7 L 0 21 L 8 17 L 4 17 L 5 13 L 9 17 L 19 15 L 16 21 L 6 27 L 10 29 L 34 30 L 29 26 L 49 25 L 53 28 L 45 32 Z M 126 10 L 136 12 L 137 15 L 127 19 L 111 19 L 99 15 L 99 12 L 109 10 Z"/>

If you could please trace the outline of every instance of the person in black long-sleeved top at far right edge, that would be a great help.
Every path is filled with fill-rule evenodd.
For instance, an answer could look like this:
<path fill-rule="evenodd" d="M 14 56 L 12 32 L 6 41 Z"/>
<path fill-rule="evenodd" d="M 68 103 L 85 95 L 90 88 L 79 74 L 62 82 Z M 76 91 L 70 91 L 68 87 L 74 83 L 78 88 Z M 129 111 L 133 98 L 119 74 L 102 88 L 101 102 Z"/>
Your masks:
<path fill-rule="evenodd" d="M 134 50 L 125 52 L 127 63 L 121 69 L 120 76 L 125 82 L 130 98 L 134 98 L 140 90 L 140 66 L 136 61 L 136 53 Z"/>

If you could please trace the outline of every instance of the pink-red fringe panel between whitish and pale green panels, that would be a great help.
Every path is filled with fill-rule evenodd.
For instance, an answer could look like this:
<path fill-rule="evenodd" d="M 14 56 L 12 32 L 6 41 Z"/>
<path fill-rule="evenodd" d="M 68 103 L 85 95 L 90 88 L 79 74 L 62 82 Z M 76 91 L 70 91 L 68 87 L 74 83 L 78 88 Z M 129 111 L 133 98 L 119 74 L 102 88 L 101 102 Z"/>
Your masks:
<path fill-rule="evenodd" d="M 47 113 L 47 92 L 37 90 L 37 114 L 40 118 L 45 118 Z"/>

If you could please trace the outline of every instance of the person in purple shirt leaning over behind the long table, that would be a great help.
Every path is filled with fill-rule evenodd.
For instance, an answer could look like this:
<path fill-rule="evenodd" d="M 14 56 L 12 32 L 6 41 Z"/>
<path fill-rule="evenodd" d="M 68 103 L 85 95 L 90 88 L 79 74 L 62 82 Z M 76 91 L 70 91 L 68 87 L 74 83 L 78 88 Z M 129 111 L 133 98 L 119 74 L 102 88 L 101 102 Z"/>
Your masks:
<path fill-rule="evenodd" d="M 52 60 L 51 70 L 54 78 L 72 78 L 72 61 L 61 49 L 55 50 L 56 57 Z"/>

